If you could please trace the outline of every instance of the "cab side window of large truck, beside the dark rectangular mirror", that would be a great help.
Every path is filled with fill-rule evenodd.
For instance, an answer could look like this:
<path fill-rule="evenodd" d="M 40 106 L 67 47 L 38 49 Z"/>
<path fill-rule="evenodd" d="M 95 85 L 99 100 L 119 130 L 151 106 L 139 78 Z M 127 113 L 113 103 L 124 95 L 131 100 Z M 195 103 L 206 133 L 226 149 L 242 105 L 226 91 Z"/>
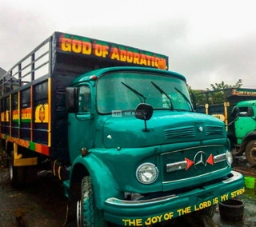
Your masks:
<path fill-rule="evenodd" d="M 81 86 L 79 90 L 79 112 L 90 112 L 91 95 L 89 86 Z"/>

